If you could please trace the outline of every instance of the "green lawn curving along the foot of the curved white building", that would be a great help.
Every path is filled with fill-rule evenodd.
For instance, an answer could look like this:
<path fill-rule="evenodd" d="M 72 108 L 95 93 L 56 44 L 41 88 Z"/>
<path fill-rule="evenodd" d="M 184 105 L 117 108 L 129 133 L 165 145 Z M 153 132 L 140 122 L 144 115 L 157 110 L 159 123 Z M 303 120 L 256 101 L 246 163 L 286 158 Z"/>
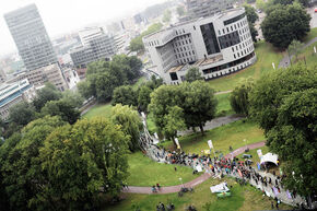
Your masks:
<path fill-rule="evenodd" d="M 283 58 L 282 52 L 277 51 L 272 45 L 259 42 L 255 45 L 257 61 L 255 65 L 240 70 L 236 73 L 222 77 L 220 79 L 210 80 L 209 84 L 216 91 L 233 90 L 243 79 L 254 78 L 258 79 L 263 72 L 272 70 L 272 62 L 275 67 L 279 66 L 280 60 Z"/>

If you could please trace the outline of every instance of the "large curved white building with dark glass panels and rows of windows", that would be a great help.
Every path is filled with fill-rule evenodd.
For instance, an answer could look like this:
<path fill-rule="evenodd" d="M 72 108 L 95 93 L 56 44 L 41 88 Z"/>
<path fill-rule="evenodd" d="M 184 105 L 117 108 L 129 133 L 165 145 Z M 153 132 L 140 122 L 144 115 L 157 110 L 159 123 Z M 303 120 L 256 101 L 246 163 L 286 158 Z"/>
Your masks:
<path fill-rule="evenodd" d="M 190 67 L 206 80 L 242 70 L 256 61 L 244 9 L 232 9 L 143 37 L 154 72 L 166 83 L 185 80 Z"/>

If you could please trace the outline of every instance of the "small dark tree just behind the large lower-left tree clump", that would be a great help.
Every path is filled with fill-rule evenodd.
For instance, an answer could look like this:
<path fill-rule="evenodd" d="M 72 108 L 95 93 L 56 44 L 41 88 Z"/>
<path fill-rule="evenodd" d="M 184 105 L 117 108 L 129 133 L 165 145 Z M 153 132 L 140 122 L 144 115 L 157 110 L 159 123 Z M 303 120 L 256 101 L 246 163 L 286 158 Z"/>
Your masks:
<path fill-rule="evenodd" d="M 64 99 L 47 102 L 40 113 L 43 116 L 60 116 L 69 124 L 74 124 L 80 118 L 80 112 Z"/>

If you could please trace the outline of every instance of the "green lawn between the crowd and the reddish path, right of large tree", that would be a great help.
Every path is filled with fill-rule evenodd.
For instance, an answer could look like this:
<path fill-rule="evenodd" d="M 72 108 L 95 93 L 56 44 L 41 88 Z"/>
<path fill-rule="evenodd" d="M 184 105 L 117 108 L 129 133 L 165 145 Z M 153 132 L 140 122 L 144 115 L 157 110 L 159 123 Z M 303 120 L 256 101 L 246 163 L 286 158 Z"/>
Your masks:
<path fill-rule="evenodd" d="M 130 176 L 127 183 L 131 186 L 149 187 L 157 183 L 162 186 L 174 186 L 180 185 L 179 178 L 187 183 L 198 177 L 192 175 L 190 167 L 156 163 L 141 152 L 129 154 L 128 161 Z"/>

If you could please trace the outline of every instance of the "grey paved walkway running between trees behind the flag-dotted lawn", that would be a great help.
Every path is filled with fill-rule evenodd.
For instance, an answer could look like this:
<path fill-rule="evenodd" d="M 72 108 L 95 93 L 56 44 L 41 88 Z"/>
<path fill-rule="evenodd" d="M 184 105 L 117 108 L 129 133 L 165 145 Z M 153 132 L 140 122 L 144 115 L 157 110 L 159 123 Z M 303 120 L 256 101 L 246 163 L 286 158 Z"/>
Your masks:
<path fill-rule="evenodd" d="M 219 118 L 212 119 L 211 121 L 207 121 L 203 127 L 203 130 L 204 131 L 211 130 L 213 128 L 218 128 L 220 126 L 224 126 L 224 125 L 237 121 L 245 117 L 240 115 L 230 115 L 225 117 L 219 117 Z M 199 128 L 197 129 L 197 131 L 200 131 Z M 191 133 L 195 133 L 191 129 L 177 132 L 178 136 L 185 136 L 185 134 L 191 134 Z"/>

